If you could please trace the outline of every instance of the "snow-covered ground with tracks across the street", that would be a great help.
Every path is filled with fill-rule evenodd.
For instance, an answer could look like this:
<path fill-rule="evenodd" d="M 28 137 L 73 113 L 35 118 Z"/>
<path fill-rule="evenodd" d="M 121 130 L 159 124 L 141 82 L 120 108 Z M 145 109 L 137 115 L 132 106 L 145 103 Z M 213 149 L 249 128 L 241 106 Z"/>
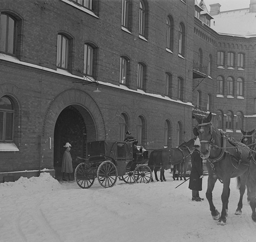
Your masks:
<path fill-rule="evenodd" d="M 104 189 L 97 179 L 90 189 L 59 183 L 48 173 L 0 184 L 0 242 L 255 242 L 256 223 L 244 196 L 242 215 L 231 179 L 227 224 L 217 225 L 208 201 L 191 201 L 188 182 L 126 184 Z M 207 175 L 203 178 L 205 198 Z M 213 201 L 221 210 L 222 184 Z"/>

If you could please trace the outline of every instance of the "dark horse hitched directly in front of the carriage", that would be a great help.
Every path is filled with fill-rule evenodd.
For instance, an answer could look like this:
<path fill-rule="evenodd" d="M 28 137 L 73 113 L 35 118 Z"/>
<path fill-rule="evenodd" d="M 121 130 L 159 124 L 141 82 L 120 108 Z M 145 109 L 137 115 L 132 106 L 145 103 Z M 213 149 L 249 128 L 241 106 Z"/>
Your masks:
<path fill-rule="evenodd" d="M 164 170 L 166 166 L 170 164 L 175 165 L 181 162 L 185 162 L 185 167 L 188 167 L 189 156 L 191 155 L 191 149 L 194 145 L 194 139 L 184 142 L 177 148 L 165 148 L 154 150 L 149 155 L 148 166 L 151 171 L 155 172 L 155 179 L 158 180 L 157 171 L 160 169 L 160 180 L 161 182 L 166 181 L 164 176 Z M 185 170 L 185 168 L 184 168 Z M 186 175 L 186 172 L 184 176 Z M 151 179 L 153 182 L 153 177 Z"/>

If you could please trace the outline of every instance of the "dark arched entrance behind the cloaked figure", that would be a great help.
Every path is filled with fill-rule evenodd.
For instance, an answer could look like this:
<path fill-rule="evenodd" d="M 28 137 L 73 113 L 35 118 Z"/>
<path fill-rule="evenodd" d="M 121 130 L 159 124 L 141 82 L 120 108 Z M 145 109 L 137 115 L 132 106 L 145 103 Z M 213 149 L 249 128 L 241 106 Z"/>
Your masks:
<path fill-rule="evenodd" d="M 87 132 L 87 128 L 90 129 L 89 132 Z M 81 162 L 81 160 L 77 159 L 77 156 L 86 157 L 87 135 L 90 136 L 89 139 L 93 139 L 96 136 L 95 125 L 90 113 L 77 104 L 64 108 L 58 116 L 54 128 L 54 169 L 56 179 L 62 178 L 61 164 L 65 151 L 63 145 L 69 142 L 72 146 L 70 153 L 73 159 L 74 174 L 75 167 Z"/>

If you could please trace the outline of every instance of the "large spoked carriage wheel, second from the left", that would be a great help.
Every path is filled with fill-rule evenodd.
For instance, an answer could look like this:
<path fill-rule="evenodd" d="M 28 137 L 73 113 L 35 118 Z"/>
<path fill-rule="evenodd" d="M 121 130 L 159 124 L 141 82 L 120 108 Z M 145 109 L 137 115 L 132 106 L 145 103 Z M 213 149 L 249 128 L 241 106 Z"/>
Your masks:
<path fill-rule="evenodd" d="M 97 177 L 102 187 L 112 187 L 117 182 L 117 167 L 110 160 L 105 160 L 98 167 Z"/>

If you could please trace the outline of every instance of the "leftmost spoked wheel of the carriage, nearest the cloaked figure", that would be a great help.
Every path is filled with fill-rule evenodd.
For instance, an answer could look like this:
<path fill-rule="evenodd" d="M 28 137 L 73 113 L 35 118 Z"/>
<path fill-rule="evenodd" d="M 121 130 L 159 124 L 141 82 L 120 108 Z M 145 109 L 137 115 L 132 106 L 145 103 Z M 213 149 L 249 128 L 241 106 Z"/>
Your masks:
<path fill-rule="evenodd" d="M 86 167 L 85 163 L 80 163 L 75 168 L 75 181 L 81 188 L 89 188 L 94 183 L 95 176 L 93 170 Z"/>

